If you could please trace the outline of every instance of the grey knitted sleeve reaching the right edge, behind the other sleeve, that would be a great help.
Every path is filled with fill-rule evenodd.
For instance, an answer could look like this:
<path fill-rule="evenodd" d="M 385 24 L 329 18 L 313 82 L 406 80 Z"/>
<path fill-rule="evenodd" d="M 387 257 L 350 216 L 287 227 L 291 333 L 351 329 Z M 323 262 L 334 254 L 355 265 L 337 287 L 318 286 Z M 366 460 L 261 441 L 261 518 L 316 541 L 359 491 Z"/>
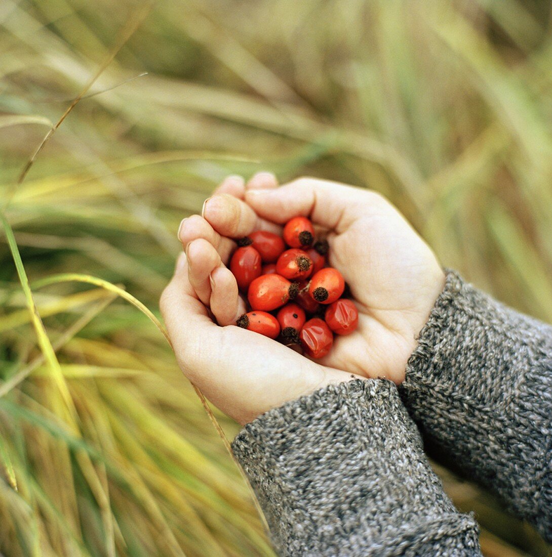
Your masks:
<path fill-rule="evenodd" d="M 552 327 L 448 271 L 399 388 L 424 441 L 552 541 Z"/>

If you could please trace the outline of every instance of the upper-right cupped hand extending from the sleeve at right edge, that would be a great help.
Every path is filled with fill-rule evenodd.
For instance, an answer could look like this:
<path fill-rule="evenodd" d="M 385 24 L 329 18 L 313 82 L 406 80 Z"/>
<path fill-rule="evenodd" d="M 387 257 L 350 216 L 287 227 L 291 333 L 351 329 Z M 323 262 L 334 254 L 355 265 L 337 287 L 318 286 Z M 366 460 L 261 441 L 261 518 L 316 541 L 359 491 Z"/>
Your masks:
<path fill-rule="evenodd" d="M 223 184 L 222 192 L 204 204 L 203 216 L 224 242 L 253 228 L 279 232 L 297 215 L 328 231 L 329 263 L 350 286 L 359 326 L 349 336 L 336 336 L 330 353 L 316 361 L 401 383 L 416 336 L 443 289 L 444 273 L 397 209 L 370 190 L 314 178 L 277 187 L 263 174 L 245 188 Z M 184 241 L 192 238 L 188 232 L 181 230 Z"/>

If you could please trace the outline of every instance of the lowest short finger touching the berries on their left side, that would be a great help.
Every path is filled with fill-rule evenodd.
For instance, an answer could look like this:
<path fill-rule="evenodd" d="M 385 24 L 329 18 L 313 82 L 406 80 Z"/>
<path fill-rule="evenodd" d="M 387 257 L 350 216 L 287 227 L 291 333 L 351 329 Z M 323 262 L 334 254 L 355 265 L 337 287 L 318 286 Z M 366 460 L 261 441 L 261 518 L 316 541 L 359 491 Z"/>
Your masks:
<path fill-rule="evenodd" d="M 247 309 L 240 296 L 236 277 L 226 267 L 217 267 L 211 275 L 211 300 L 209 305 L 219 325 L 236 325 L 236 320 Z"/>

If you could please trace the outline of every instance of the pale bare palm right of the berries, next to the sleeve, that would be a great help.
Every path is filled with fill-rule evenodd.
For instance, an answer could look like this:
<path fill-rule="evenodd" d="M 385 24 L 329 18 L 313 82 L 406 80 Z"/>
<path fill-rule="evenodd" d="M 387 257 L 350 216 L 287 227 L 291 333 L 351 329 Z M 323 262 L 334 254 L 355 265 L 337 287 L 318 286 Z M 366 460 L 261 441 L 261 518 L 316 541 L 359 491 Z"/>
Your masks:
<path fill-rule="evenodd" d="M 337 337 L 321 363 L 400 382 L 415 335 L 442 288 L 433 253 L 403 217 L 375 198 L 365 214 L 329 234 L 330 265 L 345 276 L 359 309 L 359 327 Z"/>

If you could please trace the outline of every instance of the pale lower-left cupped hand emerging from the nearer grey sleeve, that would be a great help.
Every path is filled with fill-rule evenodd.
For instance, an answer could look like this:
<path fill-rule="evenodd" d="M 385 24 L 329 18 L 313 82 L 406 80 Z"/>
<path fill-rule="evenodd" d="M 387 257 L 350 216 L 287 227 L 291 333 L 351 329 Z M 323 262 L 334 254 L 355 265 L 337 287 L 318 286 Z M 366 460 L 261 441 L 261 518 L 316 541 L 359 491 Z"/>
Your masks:
<path fill-rule="evenodd" d="M 260 187 L 267 178 L 273 180 L 266 174 L 257 179 Z M 248 185 L 256 187 L 256 181 Z M 232 237 L 256 228 L 277 229 L 241 201 L 244 191 L 243 181 L 233 177 L 219 188 L 221 226 L 234 226 Z M 219 201 L 212 201 L 208 212 L 214 215 Z M 230 212 L 225 213 L 226 209 Z M 161 311 L 180 369 L 224 413 L 245 424 L 287 400 L 330 383 L 359 378 L 235 326 L 245 311 L 236 280 L 225 266 L 235 243 L 198 215 L 185 220 L 179 237 L 187 250 L 178 258 L 174 276 L 163 291 Z M 232 326 L 213 323 L 207 307 L 220 325 Z"/>

